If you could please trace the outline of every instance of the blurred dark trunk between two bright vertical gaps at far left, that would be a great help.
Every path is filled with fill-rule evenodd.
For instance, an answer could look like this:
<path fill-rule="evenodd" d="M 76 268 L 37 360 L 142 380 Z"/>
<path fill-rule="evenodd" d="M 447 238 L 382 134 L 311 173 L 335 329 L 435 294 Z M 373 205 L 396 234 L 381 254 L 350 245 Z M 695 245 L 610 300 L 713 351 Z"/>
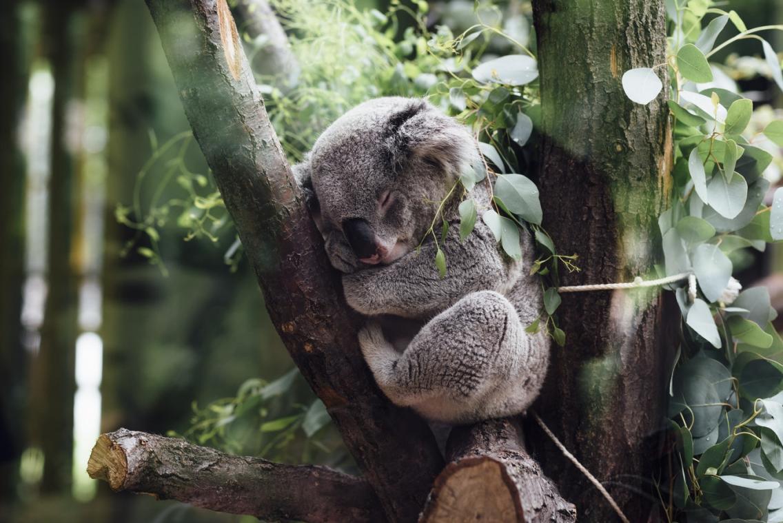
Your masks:
<path fill-rule="evenodd" d="M 49 231 L 47 233 L 47 295 L 41 346 L 32 372 L 31 397 L 38 423 L 32 438 L 43 450 L 41 491 L 68 492 L 71 482 L 74 427 L 74 351 L 77 336 L 78 280 L 72 245 L 77 200 L 74 158 L 67 144 L 67 114 L 74 96 L 79 60 L 74 49 L 71 2 L 57 2 L 45 11 L 52 67 L 52 145 L 49 171 Z"/>

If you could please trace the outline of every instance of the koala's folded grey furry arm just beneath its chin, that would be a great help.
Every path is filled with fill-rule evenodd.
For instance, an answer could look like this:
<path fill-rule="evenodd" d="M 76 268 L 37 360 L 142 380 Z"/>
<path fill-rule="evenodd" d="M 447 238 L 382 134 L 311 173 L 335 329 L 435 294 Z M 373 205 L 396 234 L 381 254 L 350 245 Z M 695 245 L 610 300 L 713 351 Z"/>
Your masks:
<path fill-rule="evenodd" d="M 435 266 L 434 242 L 391 265 L 343 276 L 348 305 L 366 316 L 431 316 L 474 290 L 496 290 L 511 276 L 511 260 L 503 259 L 493 233 L 480 218 L 464 243 L 460 243 L 459 223 L 449 223 L 441 248 L 446 254 L 443 278 Z"/>

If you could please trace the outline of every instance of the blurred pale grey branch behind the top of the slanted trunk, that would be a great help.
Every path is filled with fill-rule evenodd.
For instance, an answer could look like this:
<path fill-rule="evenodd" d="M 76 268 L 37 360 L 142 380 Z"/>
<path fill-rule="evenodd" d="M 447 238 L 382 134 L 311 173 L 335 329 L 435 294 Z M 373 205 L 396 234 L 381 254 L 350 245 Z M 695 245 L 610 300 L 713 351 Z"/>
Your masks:
<path fill-rule="evenodd" d="M 273 77 L 275 85 L 283 91 L 295 85 L 299 78 L 299 63 L 269 2 L 239 0 L 236 13 L 240 19 L 240 30 L 247 31 L 251 38 L 261 35 L 267 38 L 264 47 L 251 56 L 254 72 Z"/>

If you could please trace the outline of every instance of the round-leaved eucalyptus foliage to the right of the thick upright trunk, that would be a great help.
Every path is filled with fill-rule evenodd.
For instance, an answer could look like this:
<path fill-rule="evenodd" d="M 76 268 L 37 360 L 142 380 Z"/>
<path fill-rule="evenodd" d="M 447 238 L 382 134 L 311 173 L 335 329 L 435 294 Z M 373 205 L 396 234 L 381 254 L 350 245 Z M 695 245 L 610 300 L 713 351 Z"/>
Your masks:
<path fill-rule="evenodd" d="M 671 205 L 659 218 L 661 270 L 692 273 L 698 283 L 673 289 L 682 313 L 669 388 L 676 451 L 659 494 L 669 521 L 783 521 L 783 341 L 767 289 L 737 295 L 732 279 L 742 251 L 783 237 L 783 193 L 763 204 L 773 156 L 760 146 L 762 133 L 748 129 L 753 103 L 709 63 L 734 41 L 756 39 L 783 89 L 778 56 L 756 34 L 783 26 L 747 29 L 709 0 L 670 0 L 667 11 L 667 62 L 622 78 L 630 99 L 649 103 L 662 89 L 655 71 L 669 68 L 674 166 Z M 738 34 L 715 45 L 729 22 Z M 773 121 L 763 135 L 779 145 L 781 128 Z"/>

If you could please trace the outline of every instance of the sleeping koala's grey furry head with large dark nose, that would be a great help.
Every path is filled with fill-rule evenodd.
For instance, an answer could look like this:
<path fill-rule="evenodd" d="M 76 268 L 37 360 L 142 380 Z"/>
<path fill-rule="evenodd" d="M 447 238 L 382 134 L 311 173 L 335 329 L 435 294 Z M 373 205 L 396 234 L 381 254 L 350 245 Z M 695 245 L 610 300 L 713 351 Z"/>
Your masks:
<path fill-rule="evenodd" d="M 474 139 L 453 118 L 421 99 L 389 97 L 337 119 L 294 171 L 312 190 L 333 265 L 352 272 L 413 250 L 476 158 Z"/>

